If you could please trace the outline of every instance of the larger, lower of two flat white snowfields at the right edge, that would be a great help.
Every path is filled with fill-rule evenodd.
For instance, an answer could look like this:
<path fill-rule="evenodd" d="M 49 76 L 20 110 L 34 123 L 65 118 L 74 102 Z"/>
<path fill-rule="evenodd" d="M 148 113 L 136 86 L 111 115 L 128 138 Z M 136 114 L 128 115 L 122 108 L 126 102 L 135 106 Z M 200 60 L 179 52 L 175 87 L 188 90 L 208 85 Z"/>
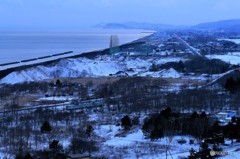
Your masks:
<path fill-rule="evenodd" d="M 207 55 L 206 57 L 209 59 L 220 59 L 232 65 L 240 64 L 240 52 L 228 53 L 226 55 Z"/>

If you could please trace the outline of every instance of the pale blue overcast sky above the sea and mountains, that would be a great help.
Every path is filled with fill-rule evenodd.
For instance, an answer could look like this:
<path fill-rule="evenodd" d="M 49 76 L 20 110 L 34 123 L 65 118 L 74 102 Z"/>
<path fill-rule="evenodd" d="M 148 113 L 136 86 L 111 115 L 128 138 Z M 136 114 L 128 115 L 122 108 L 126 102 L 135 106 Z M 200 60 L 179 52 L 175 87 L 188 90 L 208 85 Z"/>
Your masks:
<path fill-rule="evenodd" d="M 194 25 L 240 18 L 240 0 L 0 0 L 0 29 L 85 28 L 107 22 Z"/>

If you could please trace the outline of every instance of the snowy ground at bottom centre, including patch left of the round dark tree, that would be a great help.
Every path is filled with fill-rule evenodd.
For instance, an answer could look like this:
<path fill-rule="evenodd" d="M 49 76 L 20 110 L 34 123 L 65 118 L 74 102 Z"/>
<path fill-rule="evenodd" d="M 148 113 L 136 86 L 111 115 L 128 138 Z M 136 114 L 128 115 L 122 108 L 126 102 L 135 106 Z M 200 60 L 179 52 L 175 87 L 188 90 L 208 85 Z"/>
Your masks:
<path fill-rule="evenodd" d="M 96 134 L 106 139 L 103 146 L 104 149 L 106 147 L 110 147 L 116 151 L 116 153 L 119 149 L 127 149 L 128 153 L 122 156 L 124 159 L 136 158 L 137 155 L 140 155 L 139 157 L 143 159 L 165 158 L 166 146 L 169 146 L 169 151 L 173 159 L 187 157 L 191 148 L 195 150 L 199 149 L 197 144 L 189 144 L 189 140 L 193 139 L 189 136 L 174 136 L 171 142 L 168 137 L 161 140 L 151 141 L 149 139 L 145 139 L 142 130 L 138 128 L 134 129 L 133 132 L 126 134 L 126 136 L 119 135 L 121 132 L 121 127 L 114 125 L 102 125 L 98 130 L 95 130 Z M 182 145 L 179 144 L 178 141 L 181 139 L 186 140 L 186 143 Z M 153 149 L 157 149 L 158 153 L 151 153 Z M 170 157 L 169 153 L 168 155 Z"/>

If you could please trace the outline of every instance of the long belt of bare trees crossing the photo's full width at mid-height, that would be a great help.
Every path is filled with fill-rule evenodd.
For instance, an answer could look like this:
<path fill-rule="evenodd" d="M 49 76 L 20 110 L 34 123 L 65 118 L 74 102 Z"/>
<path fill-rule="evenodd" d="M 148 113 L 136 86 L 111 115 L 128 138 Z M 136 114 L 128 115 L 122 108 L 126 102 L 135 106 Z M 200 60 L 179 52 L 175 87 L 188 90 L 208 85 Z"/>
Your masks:
<path fill-rule="evenodd" d="M 62 82 L 61 86 L 56 86 L 54 83 L 24 83 L 4 86 L 0 98 L 6 99 L 10 92 L 14 94 L 37 92 L 47 96 L 73 95 L 80 100 L 105 98 L 106 102 L 114 105 L 119 113 L 152 111 L 166 106 L 179 111 L 219 111 L 222 108 L 236 109 L 239 102 L 237 95 L 219 89 L 196 88 L 169 92 L 167 89 L 169 87 L 171 85 L 166 80 L 144 77 L 121 78 L 113 83 L 99 85 Z M 8 108 L 16 106 L 18 106 L 16 100 L 6 105 Z"/>

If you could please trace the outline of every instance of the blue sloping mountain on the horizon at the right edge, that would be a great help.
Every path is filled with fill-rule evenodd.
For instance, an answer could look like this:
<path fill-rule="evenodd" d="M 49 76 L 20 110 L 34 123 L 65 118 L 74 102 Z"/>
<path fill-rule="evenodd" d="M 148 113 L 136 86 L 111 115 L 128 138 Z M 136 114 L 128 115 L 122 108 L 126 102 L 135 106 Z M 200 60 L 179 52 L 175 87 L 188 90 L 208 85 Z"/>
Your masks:
<path fill-rule="evenodd" d="M 225 30 L 232 32 L 240 32 L 240 19 L 201 23 L 193 26 L 192 28 L 202 30 Z"/>

